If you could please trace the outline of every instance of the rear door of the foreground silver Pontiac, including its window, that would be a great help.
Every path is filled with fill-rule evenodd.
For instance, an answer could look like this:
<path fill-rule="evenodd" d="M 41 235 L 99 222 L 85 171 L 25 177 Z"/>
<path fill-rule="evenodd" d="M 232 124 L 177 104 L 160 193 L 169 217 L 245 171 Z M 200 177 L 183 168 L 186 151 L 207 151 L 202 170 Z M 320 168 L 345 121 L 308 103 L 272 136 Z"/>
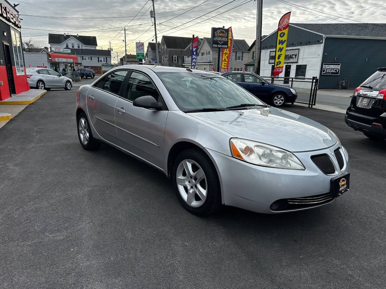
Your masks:
<path fill-rule="evenodd" d="M 115 128 L 115 104 L 119 99 L 127 70 L 114 71 L 102 77 L 87 92 L 88 119 L 98 135 L 109 143 L 119 146 Z"/>

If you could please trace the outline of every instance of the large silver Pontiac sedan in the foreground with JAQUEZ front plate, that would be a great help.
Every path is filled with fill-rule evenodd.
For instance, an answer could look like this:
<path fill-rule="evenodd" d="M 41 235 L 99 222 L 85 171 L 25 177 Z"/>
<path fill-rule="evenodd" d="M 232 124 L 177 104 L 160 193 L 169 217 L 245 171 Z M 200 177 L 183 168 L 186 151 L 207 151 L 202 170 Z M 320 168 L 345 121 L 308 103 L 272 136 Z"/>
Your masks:
<path fill-rule="evenodd" d="M 162 171 L 197 215 L 305 210 L 349 189 L 349 156 L 330 129 L 222 76 L 120 66 L 81 86 L 76 104 L 83 148 L 109 144 Z"/>

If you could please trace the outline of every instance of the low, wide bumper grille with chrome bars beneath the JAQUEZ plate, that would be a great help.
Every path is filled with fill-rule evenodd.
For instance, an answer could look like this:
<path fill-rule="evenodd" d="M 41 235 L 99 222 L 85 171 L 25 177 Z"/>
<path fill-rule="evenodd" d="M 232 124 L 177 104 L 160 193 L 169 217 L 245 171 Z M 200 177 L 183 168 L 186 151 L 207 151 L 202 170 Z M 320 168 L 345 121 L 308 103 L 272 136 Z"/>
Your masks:
<path fill-rule="evenodd" d="M 309 197 L 281 199 L 272 203 L 272 211 L 291 211 L 304 208 L 311 208 L 320 205 L 325 205 L 334 200 L 330 193 L 314 195 Z"/>

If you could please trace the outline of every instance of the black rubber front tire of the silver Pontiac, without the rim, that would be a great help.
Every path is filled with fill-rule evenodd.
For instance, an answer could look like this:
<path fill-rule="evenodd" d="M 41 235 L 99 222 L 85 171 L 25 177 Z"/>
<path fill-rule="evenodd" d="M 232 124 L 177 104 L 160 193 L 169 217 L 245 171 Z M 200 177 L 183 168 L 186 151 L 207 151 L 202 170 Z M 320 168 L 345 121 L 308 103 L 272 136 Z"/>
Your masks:
<path fill-rule="evenodd" d="M 202 170 L 205 173 L 207 179 L 207 197 L 205 199 L 205 202 L 200 207 L 191 207 L 185 202 L 185 200 L 181 197 L 179 193 L 176 181 L 176 173 L 178 165 L 183 160 L 195 161 L 198 165 L 201 166 Z M 221 187 L 217 171 L 212 163 L 212 160 L 204 151 L 199 149 L 189 149 L 180 153 L 173 163 L 172 181 L 179 202 L 190 213 L 193 213 L 198 216 L 205 216 L 208 214 L 215 213 L 221 207 Z"/>

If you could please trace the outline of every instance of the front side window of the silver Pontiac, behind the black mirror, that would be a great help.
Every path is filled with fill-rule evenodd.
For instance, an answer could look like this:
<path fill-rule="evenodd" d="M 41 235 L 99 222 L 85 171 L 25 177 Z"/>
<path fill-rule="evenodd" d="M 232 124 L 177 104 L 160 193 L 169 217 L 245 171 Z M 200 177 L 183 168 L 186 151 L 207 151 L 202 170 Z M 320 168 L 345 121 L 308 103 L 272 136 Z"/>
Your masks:
<path fill-rule="evenodd" d="M 127 89 L 125 92 L 125 99 L 134 101 L 138 97 L 151 95 L 158 101 L 158 92 L 156 87 L 150 81 L 149 77 L 138 72 L 132 72 Z"/>

